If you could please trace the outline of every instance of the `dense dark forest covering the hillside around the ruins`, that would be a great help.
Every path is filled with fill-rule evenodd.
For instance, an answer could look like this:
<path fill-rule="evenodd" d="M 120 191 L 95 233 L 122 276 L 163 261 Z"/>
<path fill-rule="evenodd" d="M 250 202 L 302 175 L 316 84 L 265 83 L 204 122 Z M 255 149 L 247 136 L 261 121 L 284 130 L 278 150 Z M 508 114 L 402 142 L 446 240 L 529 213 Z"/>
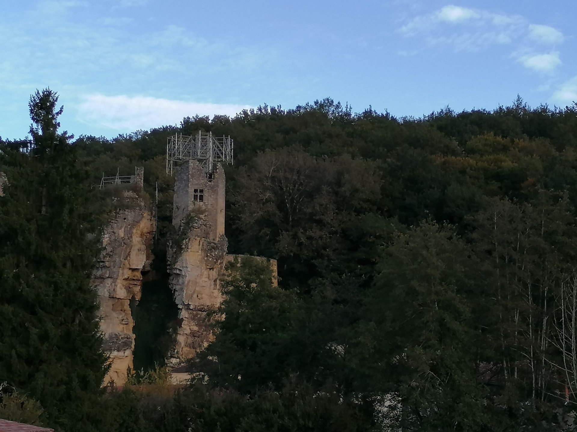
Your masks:
<path fill-rule="evenodd" d="M 57 116 L 56 107 L 47 111 Z M 531 108 L 518 98 L 493 111 L 444 108 L 399 119 L 370 108 L 353 113 L 327 98 L 288 110 L 264 105 L 235 118 L 195 116 L 114 139 L 72 139 L 31 114 L 40 125 L 32 139 L 2 142 L 0 151 L 9 180 L 0 198 L 0 382 L 38 401 L 47 425 L 513 431 L 558 430 L 572 418 L 577 104 Z M 82 396 L 49 393 L 52 382 L 27 353 L 30 340 L 17 335 L 26 323 L 46 321 L 67 338 L 88 338 L 90 362 L 102 355 L 88 331 L 95 322 L 88 293 L 61 306 L 74 325 L 83 314 L 84 336 L 66 333 L 66 314 L 54 321 L 36 305 L 46 293 L 57 304 L 84 287 L 78 275 L 86 274 L 91 249 L 83 221 L 106 213 L 94 204 L 101 200 L 91 204 L 88 197 L 98 198 L 91 185 L 102 173 L 144 166 L 149 196 L 158 185 L 152 205 L 155 256 L 162 257 L 173 187 L 166 139 L 198 130 L 235 141 L 234 165 L 225 167 L 229 251 L 278 259 L 279 286 L 258 266 L 224 283 L 217 312 L 227 319 L 192 363 L 208 383 L 174 394 L 102 395 L 85 375 L 74 386 Z M 44 218 L 51 202 L 63 207 L 51 213 L 48 205 Z M 62 233 L 61 220 L 76 228 Z M 72 248 L 57 253 L 65 243 Z M 77 285 L 65 282 L 70 254 L 81 264 Z M 31 274 L 14 276 L 15 266 Z M 55 266 L 62 276 L 48 277 Z M 72 365 L 49 362 L 72 364 L 72 355 L 57 343 L 46 367 L 73 374 Z M 91 364 L 83 363 L 92 367 L 89 376 L 99 376 Z M 76 414 L 67 417 L 57 400 L 74 400 Z M 98 419 L 89 409 L 96 404 Z"/>

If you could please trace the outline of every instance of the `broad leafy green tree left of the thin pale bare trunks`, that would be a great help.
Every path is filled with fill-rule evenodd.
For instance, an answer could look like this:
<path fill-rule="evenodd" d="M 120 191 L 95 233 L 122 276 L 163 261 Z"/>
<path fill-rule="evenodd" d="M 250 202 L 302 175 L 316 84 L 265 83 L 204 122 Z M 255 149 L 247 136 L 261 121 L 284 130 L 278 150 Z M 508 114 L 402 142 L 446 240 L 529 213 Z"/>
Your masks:
<path fill-rule="evenodd" d="M 477 362 L 487 273 L 451 227 L 430 222 L 399 234 L 379 267 L 366 299 L 374 341 L 367 385 L 395 393 L 403 430 L 484 430 Z"/>

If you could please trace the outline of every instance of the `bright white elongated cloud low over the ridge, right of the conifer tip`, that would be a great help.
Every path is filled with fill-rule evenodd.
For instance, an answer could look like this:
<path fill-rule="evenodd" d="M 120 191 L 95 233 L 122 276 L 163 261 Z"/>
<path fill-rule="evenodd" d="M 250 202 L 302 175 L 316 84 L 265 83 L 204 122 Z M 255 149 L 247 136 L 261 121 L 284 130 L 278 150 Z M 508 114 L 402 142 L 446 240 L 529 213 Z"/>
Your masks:
<path fill-rule="evenodd" d="M 115 131 L 147 130 L 175 124 L 186 116 L 234 116 L 249 105 L 208 104 L 169 100 L 147 96 L 106 96 L 87 94 L 77 107 L 77 118 L 83 123 L 98 124 Z"/>

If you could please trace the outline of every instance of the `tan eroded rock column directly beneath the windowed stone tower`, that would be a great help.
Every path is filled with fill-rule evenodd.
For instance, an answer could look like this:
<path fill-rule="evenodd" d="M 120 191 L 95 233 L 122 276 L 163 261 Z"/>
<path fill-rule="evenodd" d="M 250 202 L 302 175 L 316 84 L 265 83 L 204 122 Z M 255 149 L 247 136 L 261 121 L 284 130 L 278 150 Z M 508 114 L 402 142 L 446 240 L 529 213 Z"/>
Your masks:
<path fill-rule="evenodd" d="M 223 297 L 220 276 L 226 259 L 226 237 L 211 240 L 211 224 L 201 217 L 181 226 L 178 244 L 170 256 L 170 286 L 179 309 L 179 326 L 168 363 L 178 365 L 194 357 L 213 339 L 208 312 L 218 308 Z"/>

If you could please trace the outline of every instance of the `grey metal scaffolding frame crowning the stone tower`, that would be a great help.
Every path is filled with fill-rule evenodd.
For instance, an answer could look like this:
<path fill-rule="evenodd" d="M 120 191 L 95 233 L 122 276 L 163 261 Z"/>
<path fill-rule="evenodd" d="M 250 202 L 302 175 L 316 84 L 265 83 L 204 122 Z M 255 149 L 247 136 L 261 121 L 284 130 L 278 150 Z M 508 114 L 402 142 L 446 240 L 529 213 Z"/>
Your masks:
<path fill-rule="evenodd" d="M 166 143 L 166 173 L 173 175 L 175 162 L 197 160 L 207 175 L 212 175 L 216 164 L 233 163 L 234 142 L 228 137 L 215 137 L 212 132 L 198 131 L 196 135 L 176 134 Z"/>

